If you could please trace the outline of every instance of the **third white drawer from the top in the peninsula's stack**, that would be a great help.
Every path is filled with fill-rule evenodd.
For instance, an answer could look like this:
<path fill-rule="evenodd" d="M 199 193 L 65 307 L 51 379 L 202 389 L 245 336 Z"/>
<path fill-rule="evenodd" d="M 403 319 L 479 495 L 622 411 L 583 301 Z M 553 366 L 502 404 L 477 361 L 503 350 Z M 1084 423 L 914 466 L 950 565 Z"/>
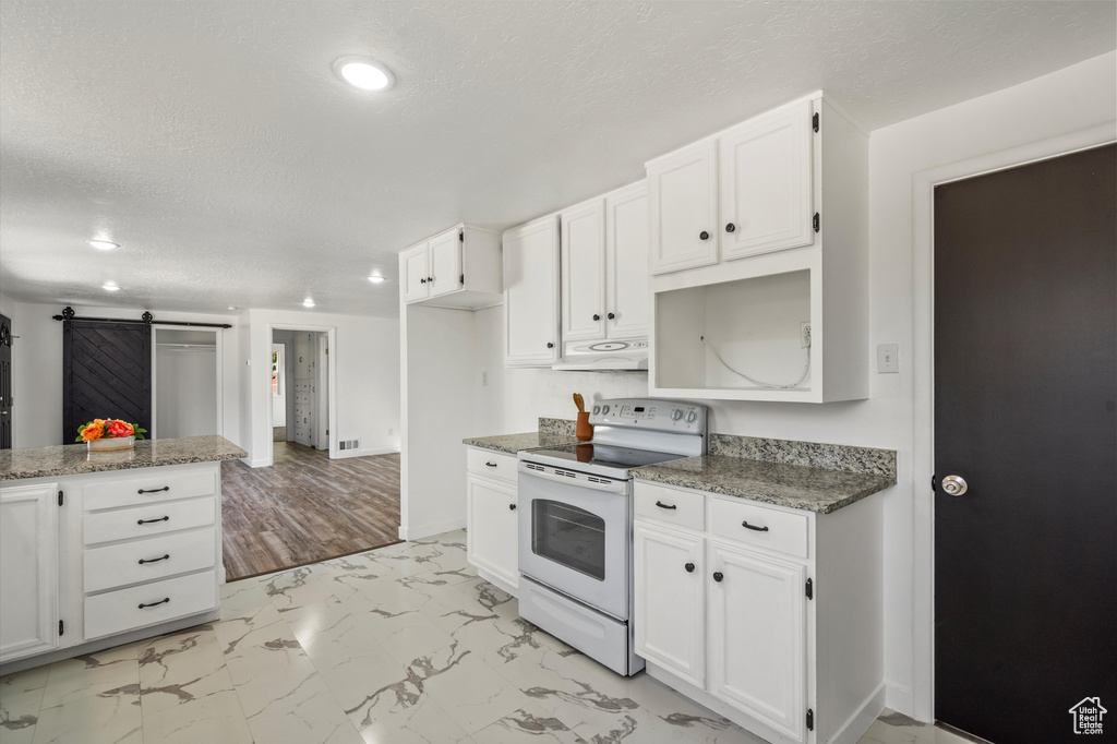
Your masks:
<path fill-rule="evenodd" d="M 217 535 L 213 530 L 194 530 L 121 545 L 93 547 L 86 550 L 82 559 L 86 593 L 99 592 L 178 573 L 212 569 L 217 561 Z"/>

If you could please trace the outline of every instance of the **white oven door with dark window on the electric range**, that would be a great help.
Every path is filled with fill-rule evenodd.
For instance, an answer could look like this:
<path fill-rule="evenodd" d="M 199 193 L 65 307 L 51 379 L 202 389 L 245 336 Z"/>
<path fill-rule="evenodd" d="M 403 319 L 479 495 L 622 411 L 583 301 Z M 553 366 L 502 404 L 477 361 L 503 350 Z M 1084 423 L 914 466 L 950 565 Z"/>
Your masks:
<path fill-rule="evenodd" d="M 619 620 L 629 616 L 631 483 L 519 464 L 519 572 Z"/>

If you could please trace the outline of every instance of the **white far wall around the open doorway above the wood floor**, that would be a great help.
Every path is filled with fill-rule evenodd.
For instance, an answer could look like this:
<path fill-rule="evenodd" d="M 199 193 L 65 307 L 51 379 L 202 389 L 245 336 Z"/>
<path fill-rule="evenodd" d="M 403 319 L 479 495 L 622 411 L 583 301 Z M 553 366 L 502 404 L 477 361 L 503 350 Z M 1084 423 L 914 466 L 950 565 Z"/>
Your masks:
<path fill-rule="evenodd" d="M 360 457 L 400 449 L 400 326 L 395 318 L 333 315 L 299 311 L 249 309 L 240 321 L 248 337 L 242 360 L 242 426 L 249 432 L 241 447 L 254 466 L 270 465 L 271 328 L 336 330 L 330 350 L 336 374 L 333 394 L 337 420 L 331 441 L 360 439 L 361 448 L 336 452 Z M 332 449 L 334 449 L 332 447 Z"/>

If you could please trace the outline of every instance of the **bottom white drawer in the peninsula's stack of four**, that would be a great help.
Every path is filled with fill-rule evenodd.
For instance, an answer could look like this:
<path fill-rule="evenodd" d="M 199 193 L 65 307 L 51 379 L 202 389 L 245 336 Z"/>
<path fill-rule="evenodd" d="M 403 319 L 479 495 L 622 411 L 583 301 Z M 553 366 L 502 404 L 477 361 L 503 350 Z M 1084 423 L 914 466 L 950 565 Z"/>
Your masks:
<path fill-rule="evenodd" d="M 216 607 L 217 574 L 212 571 L 86 597 L 85 639 L 154 626 Z"/>

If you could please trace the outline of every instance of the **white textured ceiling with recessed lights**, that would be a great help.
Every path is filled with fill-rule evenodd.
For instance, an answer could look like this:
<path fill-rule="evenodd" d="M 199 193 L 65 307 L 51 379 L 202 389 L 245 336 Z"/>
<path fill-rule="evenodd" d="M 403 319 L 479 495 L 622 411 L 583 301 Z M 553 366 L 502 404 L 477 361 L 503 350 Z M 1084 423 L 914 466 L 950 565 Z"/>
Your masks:
<path fill-rule="evenodd" d="M 876 128 L 1115 39 L 1109 1 L 3 0 L 0 292 L 395 315 L 395 254 L 459 221 L 634 181 L 819 88 Z M 338 83 L 347 54 L 397 87 Z"/>

